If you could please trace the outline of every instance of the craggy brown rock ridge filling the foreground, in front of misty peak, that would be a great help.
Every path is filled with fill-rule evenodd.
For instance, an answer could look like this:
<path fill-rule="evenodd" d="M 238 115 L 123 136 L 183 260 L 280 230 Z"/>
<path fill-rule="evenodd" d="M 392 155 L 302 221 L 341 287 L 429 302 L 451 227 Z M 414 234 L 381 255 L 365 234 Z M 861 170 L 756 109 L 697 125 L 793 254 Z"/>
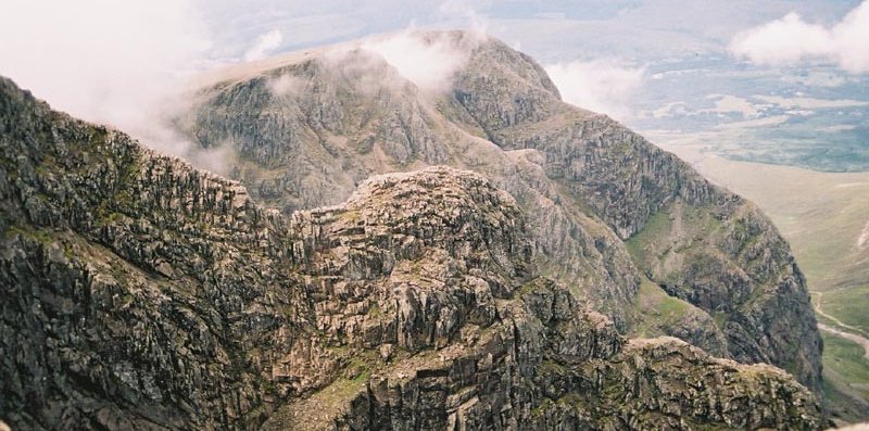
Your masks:
<path fill-rule="evenodd" d="M 15 429 L 818 429 L 766 365 L 626 340 L 521 206 L 433 167 L 282 215 L 0 79 Z"/>

